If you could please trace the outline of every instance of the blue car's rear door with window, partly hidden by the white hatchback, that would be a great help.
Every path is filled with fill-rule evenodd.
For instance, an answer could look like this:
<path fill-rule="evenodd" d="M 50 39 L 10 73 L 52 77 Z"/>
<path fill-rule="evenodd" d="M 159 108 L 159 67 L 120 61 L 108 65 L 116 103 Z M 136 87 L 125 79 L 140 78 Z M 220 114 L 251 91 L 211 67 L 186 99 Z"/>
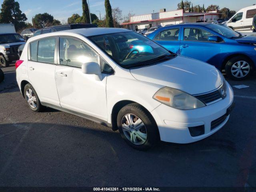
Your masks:
<path fill-rule="evenodd" d="M 164 46 L 171 52 L 180 53 L 180 27 L 168 28 L 161 30 L 155 37 L 154 41 Z"/>

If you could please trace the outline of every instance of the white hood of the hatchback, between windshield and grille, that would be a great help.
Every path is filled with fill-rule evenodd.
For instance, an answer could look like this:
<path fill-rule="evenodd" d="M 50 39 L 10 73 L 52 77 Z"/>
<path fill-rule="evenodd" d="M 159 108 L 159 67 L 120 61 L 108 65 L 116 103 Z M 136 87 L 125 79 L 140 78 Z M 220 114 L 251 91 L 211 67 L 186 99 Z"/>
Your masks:
<path fill-rule="evenodd" d="M 212 65 L 177 56 L 160 64 L 130 69 L 135 79 L 182 90 L 189 94 L 201 94 L 219 88 L 222 74 Z"/>

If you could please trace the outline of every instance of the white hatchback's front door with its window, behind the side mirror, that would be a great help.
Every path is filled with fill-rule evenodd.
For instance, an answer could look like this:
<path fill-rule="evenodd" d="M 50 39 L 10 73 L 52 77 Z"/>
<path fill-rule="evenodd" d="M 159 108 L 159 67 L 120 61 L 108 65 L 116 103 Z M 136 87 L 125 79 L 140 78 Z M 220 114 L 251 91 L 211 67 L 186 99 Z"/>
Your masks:
<path fill-rule="evenodd" d="M 56 86 L 63 108 L 107 120 L 106 75 L 83 74 L 82 63 L 97 62 L 98 54 L 82 40 L 60 37 L 60 65 L 56 66 Z"/>

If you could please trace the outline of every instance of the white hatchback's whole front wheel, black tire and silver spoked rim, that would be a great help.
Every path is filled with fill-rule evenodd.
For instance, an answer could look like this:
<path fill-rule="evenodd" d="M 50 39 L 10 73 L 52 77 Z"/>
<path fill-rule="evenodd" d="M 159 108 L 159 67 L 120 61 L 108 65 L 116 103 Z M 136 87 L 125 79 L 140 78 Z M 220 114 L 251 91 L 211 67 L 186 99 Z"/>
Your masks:
<path fill-rule="evenodd" d="M 139 104 L 124 106 L 118 113 L 117 125 L 122 138 L 137 150 L 148 150 L 159 140 L 156 123 Z"/>

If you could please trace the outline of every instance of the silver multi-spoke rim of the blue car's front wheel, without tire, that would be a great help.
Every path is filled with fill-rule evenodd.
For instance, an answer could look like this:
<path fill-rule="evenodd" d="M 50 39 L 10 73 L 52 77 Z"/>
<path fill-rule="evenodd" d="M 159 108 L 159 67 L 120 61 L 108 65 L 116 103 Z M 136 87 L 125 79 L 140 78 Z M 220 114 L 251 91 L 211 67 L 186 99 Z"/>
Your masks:
<path fill-rule="evenodd" d="M 231 73 L 236 78 L 243 78 L 250 72 L 250 65 L 246 61 L 238 61 L 231 67 Z"/>

